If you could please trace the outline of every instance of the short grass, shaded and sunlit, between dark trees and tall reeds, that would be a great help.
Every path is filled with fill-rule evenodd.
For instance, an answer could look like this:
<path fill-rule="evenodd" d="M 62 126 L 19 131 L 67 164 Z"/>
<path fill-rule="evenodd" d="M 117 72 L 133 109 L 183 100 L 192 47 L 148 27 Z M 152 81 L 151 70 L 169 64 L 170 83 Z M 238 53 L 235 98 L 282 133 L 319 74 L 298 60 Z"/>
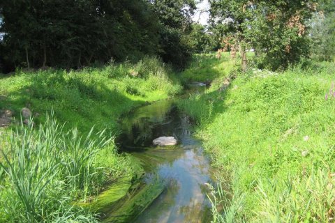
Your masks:
<path fill-rule="evenodd" d="M 66 126 L 77 126 L 81 132 L 97 129 L 117 132 L 121 114 L 146 102 L 162 100 L 181 91 L 171 81 L 172 70 L 159 59 L 144 58 L 131 63 L 111 63 L 103 68 L 80 71 L 17 71 L 0 82 L 0 107 L 11 109 L 20 120 L 22 107 L 40 114 L 37 123 L 45 121 L 46 112 Z"/>

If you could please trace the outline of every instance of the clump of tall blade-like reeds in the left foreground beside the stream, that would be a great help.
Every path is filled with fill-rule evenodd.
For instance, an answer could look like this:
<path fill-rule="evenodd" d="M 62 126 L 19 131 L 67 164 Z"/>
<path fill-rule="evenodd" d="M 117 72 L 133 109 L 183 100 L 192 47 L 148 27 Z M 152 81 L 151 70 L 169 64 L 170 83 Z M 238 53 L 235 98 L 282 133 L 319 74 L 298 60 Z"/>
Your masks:
<path fill-rule="evenodd" d="M 95 222 L 96 217 L 73 206 L 73 201 L 86 200 L 105 183 L 101 179 L 106 172 L 113 174 L 113 167 L 97 165 L 106 148 L 114 159 L 118 156 L 112 139 L 103 135 L 92 129 L 82 137 L 75 128 L 64 130 L 52 116 L 46 116 L 38 130 L 21 125 L 11 132 L 8 147 L 1 150 L 0 167 L 6 176 L 1 183 L 0 220 Z M 126 164 L 119 160 L 115 166 L 126 174 Z"/>

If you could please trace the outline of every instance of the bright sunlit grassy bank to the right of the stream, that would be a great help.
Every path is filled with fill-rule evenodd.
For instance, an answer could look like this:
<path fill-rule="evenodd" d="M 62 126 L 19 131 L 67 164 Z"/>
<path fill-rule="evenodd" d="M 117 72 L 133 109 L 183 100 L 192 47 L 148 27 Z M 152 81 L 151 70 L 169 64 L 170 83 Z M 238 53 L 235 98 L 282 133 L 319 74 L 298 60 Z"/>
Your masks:
<path fill-rule="evenodd" d="M 334 221 L 334 74 L 249 70 L 180 103 L 225 175 L 214 222 Z"/>

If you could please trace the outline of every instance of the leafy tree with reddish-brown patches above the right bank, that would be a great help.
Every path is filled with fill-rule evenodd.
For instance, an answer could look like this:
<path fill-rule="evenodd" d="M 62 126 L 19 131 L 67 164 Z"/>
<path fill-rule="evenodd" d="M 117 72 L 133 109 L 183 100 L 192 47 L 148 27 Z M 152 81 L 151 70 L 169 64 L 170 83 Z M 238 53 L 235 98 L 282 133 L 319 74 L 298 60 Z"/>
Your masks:
<path fill-rule="evenodd" d="M 262 68 L 285 68 L 308 56 L 306 23 L 316 10 L 314 0 L 210 2 L 211 22 L 239 45 L 242 55 L 246 47 L 254 48 Z"/>

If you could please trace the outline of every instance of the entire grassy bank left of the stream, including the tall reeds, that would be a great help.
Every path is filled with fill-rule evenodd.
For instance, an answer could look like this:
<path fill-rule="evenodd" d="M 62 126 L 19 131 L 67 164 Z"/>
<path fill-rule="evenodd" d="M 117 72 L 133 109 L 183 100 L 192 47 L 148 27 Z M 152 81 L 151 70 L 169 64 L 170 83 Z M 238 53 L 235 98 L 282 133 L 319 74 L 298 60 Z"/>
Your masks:
<path fill-rule="evenodd" d="M 179 93 L 181 86 L 170 77 L 172 70 L 161 61 L 144 58 L 1 78 L 0 107 L 14 116 L 13 125 L 0 129 L 0 222 L 96 222 L 75 203 L 139 171 L 133 159 L 117 154 L 118 118 Z M 22 107 L 31 109 L 34 127 L 20 125 Z"/>

